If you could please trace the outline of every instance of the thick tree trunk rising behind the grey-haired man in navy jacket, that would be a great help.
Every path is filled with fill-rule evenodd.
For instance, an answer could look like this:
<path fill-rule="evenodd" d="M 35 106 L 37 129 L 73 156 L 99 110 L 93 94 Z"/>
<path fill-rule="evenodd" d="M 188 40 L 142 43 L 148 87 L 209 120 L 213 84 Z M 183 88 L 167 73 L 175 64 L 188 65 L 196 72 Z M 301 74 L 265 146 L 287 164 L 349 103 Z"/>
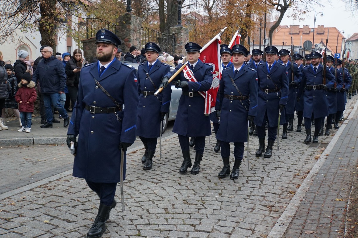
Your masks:
<path fill-rule="evenodd" d="M 55 27 L 55 12 L 56 12 L 56 0 L 41 0 L 40 1 L 40 21 L 39 21 L 39 32 L 41 35 L 41 45 L 48 45 L 52 47 L 53 51 L 56 52 L 56 41 L 57 36 Z"/>

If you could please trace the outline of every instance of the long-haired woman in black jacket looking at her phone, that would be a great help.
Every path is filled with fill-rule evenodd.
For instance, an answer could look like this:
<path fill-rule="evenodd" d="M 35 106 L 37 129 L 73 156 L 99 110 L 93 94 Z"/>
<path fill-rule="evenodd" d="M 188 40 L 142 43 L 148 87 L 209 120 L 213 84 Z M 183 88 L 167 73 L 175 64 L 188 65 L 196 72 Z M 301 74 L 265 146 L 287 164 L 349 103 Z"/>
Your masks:
<path fill-rule="evenodd" d="M 82 51 L 80 49 L 76 49 L 73 51 L 73 56 L 70 60 L 67 61 L 65 67 L 65 71 L 67 75 L 66 85 L 68 88 L 69 96 L 71 98 L 72 110 L 73 110 L 74 103 L 76 103 L 77 100 L 79 75 L 81 73 L 83 61 L 84 59 L 82 57 Z M 87 62 L 85 62 L 84 65 L 87 65 Z"/>

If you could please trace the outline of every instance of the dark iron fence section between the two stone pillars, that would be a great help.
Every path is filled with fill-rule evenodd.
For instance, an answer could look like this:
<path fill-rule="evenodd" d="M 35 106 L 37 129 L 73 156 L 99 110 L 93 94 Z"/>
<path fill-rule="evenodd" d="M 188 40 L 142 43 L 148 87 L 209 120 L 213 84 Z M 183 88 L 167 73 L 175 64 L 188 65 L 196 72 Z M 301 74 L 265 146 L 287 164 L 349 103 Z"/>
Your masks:
<path fill-rule="evenodd" d="M 166 52 L 174 55 L 175 51 L 175 36 L 170 34 L 163 34 L 159 31 L 149 27 L 142 27 L 142 45 L 147 42 L 154 42 L 158 44 L 161 52 Z"/>

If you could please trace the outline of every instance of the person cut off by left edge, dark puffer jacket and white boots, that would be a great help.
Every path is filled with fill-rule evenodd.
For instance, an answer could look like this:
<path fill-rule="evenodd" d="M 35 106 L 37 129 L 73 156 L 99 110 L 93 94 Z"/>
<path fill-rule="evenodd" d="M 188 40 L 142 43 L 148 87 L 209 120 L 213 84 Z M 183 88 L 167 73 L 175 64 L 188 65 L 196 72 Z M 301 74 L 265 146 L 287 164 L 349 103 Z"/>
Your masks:
<path fill-rule="evenodd" d="M 9 97 L 9 92 L 11 92 L 10 83 L 8 82 L 8 73 L 6 73 L 3 58 L 3 52 L 0 51 L 0 131 L 9 129 L 4 125 L 2 116 L 5 99 Z"/>

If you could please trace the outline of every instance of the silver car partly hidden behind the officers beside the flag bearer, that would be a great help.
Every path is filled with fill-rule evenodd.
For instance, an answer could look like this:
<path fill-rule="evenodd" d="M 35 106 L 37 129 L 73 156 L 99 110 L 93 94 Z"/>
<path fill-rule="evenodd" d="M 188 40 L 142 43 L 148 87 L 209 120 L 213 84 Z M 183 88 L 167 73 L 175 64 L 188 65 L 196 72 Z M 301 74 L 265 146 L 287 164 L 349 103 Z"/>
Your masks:
<path fill-rule="evenodd" d="M 126 62 L 126 61 L 122 61 L 122 62 L 129 64 L 133 66 L 136 70 L 138 70 L 139 64 L 134 64 L 132 62 Z M 171 71 L 173 71 L 174 69 L 175 69 L 174 67 L 170 66 Z M 168 126 L 168 121 L 175 120 L 176 112 L 178 111 L 178 106 L 179 106 L 179 99 L 181 95 L 182 95 L 182 89 L 176 88 L 174 85 L 172 85 L 169 112 L 166 114 L 166 117 L 164 117 L 162 133 L 164 133 L 166 127 Z"/>

